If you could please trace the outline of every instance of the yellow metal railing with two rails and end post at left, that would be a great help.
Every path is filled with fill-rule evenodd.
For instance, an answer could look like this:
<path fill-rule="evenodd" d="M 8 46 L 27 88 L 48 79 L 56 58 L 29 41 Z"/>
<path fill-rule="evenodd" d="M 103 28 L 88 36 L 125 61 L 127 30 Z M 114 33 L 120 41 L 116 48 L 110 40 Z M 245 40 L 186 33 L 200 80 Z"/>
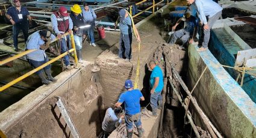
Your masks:
<path fill-rule="evenodd" d="M 69 33 L 67 32 L 67 33 L 63 34 L 63 37 L 66 35 L 69 35 Z M 16 84 L 20 80 L 25 79 L 26 77 L 30 76 L 31 74 L 36 73 L 37 71 L 41 70 L 42 68 L 46 67 L 47 65 L 52 64 L 53 62 L 57 61 L 58 59 L 63 58 L 63 56 L 66 56 L 70 52 L 74 52 L 75 64 L 78 64 L 78 59 L 77 59 L 76 50 L 75 50 L 75 40 L 73 39 L 73 33 L 70 34 L 70 38 L 71 38 L 72 49 L 68 50 L 65 53 L 62 53 L 61 55 L 55 57 L 54 59 L 51 59 L 50 61 L 46 62 L 45 64 L 41 65 L 40 67 L 34 68 L 34 70 L 31 70 L 28 73 L 23 74 L 22 76 L 18 77 L 17 79 L 7 83 L 6 85 L 4 85 L 0 88 L 0 92 L 4 91 L 5 89 L 9 88 L 10 86 Z M 54 40 L 51 41 L 51 43 L 53 43 L 54 41 L 57 41 L 57 40 L 58 40 L 58 38 L 56 37 Z M 25 52 L 21 52 L 13 57 L 5 59 L 4 61 L 0 61 L 0 65 L 4 65 L 10 61 L 13 61 L 14 59 L 20 58 L 20 57 L 27 55 L 28 53 L 34 52 L 36 50 L 37 49 L 31 49 L 31 50 L 27 50 Z"/>

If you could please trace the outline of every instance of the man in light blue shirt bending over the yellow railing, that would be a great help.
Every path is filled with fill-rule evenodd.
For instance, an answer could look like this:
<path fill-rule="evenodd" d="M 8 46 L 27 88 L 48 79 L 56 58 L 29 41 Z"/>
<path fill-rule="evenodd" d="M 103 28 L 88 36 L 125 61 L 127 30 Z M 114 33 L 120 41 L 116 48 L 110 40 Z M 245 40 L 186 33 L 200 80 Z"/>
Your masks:
<path fill-rule="evenodd" d="M 28 53 L 26 55 L 28 62 L 30 63 L 31 66 L 37 68 L 49 61 L 48 56 L 45 53 L 45 50 L 48 49 L 51 40 L 54 39 L 55 36 L 46 29 L 36 31 L 33 34 L 31 34 L 30 37 L 28 37 L 26 49 L 37 49 L 36 51 Z M 47 79 L 43 73 L 43 70 L 45 70 Z M 42 83 L 45 85 L 48 85 L 50 83 L 49 80 L 51 82 L 57 81 L 57 79 L 54 79 L 54 77 L 52 77 L 51 65 L 47 65 L 46 67 L 37 71 L 36 73 L 39 75 L 40 79 L 42 80 Z"/>

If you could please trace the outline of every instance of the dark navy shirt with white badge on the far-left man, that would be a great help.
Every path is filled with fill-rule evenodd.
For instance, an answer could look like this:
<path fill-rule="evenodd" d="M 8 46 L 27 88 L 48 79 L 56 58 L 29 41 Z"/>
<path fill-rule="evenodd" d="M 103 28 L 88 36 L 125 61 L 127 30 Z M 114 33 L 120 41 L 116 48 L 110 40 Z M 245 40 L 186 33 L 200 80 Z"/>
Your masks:
<path fill-rule="evenodd" d="M 10 15 L 15 23 L 28 23 L 27 16 L 30 15 L 30 13 L 28 13 L 27 8 L 22 6 L 20 6 L 20 11 L 17 10 L 16 7 L 10 7 L 8 8 L 6 14 Z M 19 19 L 18 14 L 22 14 L 22 19 Z"/>

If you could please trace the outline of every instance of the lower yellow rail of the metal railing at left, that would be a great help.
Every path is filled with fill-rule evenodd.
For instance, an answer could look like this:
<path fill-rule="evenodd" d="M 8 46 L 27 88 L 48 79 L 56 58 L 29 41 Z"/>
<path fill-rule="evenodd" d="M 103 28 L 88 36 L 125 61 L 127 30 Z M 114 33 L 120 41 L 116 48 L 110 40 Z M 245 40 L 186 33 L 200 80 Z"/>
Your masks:
<path fill-rule="evenodd" d="M 10 86 L 16 84 L 17 82 L 19 82 L 20 80 L 25 79 L 26 77 L 30 76 L 33 73 L 36 73 L 36 71 L 41 70 L 42 68 L 46 67 L 49 64 L 52 64 L 53 62 L 57 61 L 60 58 L 63 58 L 63 56 L 66 56 L 67 54 L 69 54 L 70 52 L 73 52 L 75 49 L 70 49 L 65 53 L 62 53 L 61 55 L 57 56 L 56 58 L 52 59 L 51 61 L 46 62 L 45 64 L 41 65 L 38 68 L 35 68 L 34 70 L 31 70 L 30 72 L 23 74 L 22 76 L 18 77 L 17 79 L 7 83 L 7 85 L 4 85 L 0 88 L 0 92 L 4 91 L 5 89 L 9 88 Z"/>

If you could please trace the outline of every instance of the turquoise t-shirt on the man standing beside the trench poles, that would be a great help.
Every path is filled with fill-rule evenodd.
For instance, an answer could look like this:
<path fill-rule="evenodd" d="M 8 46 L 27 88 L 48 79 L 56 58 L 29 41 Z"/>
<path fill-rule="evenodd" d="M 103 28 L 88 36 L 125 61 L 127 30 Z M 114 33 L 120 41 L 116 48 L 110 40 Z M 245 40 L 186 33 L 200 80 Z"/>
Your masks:
<path fill-rule="evenodd" d="M 152 70 L 150 79 L 149 79 L 149 85 L 151 88 L 153 88 L 154 83 L 155 83 L 155 77 L 159 77 L 159 83 L 157 88 L 155 88 L 155 92 L 161 92 L 164 87 L 164 79 L 163 79 L 163 72 L 160 67 L 155 66 L 154 69 Z"/>

